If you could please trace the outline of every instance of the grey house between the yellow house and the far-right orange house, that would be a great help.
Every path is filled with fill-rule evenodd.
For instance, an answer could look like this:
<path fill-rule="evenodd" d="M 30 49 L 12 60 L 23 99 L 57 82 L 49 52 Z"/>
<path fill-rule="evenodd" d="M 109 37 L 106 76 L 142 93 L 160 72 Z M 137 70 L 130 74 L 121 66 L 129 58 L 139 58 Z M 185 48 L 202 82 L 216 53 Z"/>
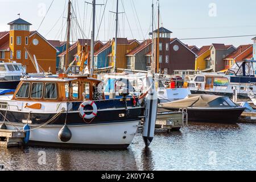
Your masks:
<path fill-rule="evenodd" d="M 236 51 L 236 47 L 233 45 L 212 44 L 210 46 L 210 56 L 205 59 L 207 69 L 211 68 L 213 72 L 219 72 L 225 69 L 223 59 L 233 51 Z"/>

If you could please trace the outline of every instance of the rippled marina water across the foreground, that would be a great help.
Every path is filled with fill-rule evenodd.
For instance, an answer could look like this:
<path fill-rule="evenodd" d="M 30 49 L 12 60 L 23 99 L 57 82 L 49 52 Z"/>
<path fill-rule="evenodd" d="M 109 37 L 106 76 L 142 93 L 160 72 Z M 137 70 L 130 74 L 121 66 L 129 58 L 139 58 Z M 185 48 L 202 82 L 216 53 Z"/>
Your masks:
<path fill-rule="evenodd" d="M 1 147 L 5 170 L 255 170 L 256 125 L 189 123 L 157 133 L 144 148 L 141 135 L 124 151 Z"/>

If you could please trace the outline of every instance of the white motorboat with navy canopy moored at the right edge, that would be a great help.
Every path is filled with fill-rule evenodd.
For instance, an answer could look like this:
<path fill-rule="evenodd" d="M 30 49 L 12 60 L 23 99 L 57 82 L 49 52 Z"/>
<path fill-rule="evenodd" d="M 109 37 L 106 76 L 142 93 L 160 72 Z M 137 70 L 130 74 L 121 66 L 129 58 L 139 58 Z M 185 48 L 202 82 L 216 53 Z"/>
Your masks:
<path fill-rule="evenodd" d="M 238 98 L 249 98 L 247 90 L 256 94 L 254 60 L 235 63 L 226 73 L 201 73 L 189 81 L 192 94 L 214 94 L 217 96 L 232 97 L 237 90 Z"/>

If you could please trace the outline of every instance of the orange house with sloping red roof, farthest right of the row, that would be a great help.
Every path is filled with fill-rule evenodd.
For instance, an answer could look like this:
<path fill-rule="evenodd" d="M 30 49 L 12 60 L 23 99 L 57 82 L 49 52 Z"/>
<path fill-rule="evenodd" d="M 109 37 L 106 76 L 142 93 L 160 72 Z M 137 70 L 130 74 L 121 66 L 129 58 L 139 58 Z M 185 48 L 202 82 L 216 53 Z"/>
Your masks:
<path fill-rule="evenodd" d="M 243 60 L 251 60 L 253 58 L 253 45 L 241 45 L 235 51 L 224 57 L 225 69 L 229 69 L 236 62 Z"/>

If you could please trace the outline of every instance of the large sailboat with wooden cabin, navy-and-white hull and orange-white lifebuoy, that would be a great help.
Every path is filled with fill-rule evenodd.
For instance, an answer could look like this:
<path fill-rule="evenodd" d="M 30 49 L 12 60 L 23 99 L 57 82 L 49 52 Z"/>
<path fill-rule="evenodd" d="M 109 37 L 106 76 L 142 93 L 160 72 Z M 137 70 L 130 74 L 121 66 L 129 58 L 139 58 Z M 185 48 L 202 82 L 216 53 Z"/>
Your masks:
<path fill-rule="evenodd" d="M 94 22 L 96 2 L 92 5 Z M 70 14 L 69 0 L 68 31 Z M 69 41 L 69 32 L 67 36 Z M 94 23 L 91 47 L 93 50 Z M 0 97 L 0 129 L 25 131 L 24 142 L 30 145 L 119 149 L 130 145 L 145 118 L 143 139 L 149 146 L 154 137 L 157 101 L 152 77 L 145 81 L 146 106 L 138 97 L 127 98 L 129 93 L 125 92 L 122 98 L 105 100 L 102 81 L 93 77 L 92 57 L 90 75 L 22 78 L 14 95 Z M 73 70 L 72 65 L 68 70 Z"/>

